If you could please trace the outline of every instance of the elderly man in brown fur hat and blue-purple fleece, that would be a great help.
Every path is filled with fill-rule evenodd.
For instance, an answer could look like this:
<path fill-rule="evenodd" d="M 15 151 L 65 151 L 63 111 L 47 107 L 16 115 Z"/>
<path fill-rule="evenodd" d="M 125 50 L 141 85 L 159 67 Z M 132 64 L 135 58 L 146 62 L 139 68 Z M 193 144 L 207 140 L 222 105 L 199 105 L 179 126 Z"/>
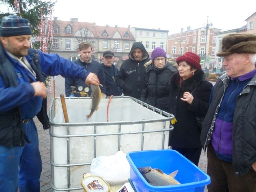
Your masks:
<path fill-rule="evenodd" d="M 201 143 L 207 148 L 208 191 L 256 191 L 256 35 L 222 39 L 226 74 L 212 89 Z"/>

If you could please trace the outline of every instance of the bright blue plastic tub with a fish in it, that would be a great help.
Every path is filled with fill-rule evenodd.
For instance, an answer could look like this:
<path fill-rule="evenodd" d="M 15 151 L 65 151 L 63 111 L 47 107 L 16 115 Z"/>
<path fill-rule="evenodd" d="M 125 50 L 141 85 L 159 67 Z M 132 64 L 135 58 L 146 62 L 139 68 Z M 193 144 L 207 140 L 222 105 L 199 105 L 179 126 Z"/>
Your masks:
<path fill-rule="evenodd" d="M 211 182 L 209 175 L 175 150 L 135 151 L 127 153 L 126 158 L 130 163 L 131 181 L 137 192 L 203 192 L 205 185 Z M 138 167 L 145 166 L 161 169 L 166 174 L 178 170 L 175 179 L 181 184 L 153 186 L 138 170 Z"/>

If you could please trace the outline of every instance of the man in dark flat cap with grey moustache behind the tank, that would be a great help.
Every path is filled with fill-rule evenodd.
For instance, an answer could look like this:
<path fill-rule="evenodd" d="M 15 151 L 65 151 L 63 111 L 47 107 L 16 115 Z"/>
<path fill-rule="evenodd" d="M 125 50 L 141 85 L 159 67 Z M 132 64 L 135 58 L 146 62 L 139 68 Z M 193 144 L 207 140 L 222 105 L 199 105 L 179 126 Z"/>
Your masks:
<path fill-rule="evenodd" d="M 103 52 L 102 67 L 106 78 L 106 95 L 120 96 L 121 88 L 116 84 L 118 69 L 114 66 L 114 53 L 111 51 Z"/>

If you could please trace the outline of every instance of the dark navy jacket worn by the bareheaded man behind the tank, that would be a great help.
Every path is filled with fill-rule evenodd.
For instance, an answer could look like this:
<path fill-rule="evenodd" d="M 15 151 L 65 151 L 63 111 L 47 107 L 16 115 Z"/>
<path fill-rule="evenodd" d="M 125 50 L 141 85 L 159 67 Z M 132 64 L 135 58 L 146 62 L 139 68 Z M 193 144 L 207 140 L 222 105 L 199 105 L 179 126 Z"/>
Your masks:
<path fill-rule="evenodd" d="M 84 67 L 88 72 L 94 73 L 97 75 L 99 79 L 99 83 L 102 85 L 100 86 L 101 92 L 106 93 L 106 86 L 105 86 L 105 73 L 103 72 L 102 65 L 96 61 L 95 59 L 92 59 L 92 62 L 83 62 L 80 59 L 77 59 L 74 61 L 75 64 L 78 64 L 79 66 Z M 71 95 L 71 86 L 75 87 L 75 90 L 79 92 L 78 87 L 82 86 L 83 89 L 87 87 L 84 81 L 81 79 L 72 79 L 72 78 L 65 78 L 65 93 L 66 97 L 69 97 Z M 88 92 L 89 96 L 91 95 L 91 91 Z M 80 93 L 75 93 L 76 97 L 81 97 Z"/>

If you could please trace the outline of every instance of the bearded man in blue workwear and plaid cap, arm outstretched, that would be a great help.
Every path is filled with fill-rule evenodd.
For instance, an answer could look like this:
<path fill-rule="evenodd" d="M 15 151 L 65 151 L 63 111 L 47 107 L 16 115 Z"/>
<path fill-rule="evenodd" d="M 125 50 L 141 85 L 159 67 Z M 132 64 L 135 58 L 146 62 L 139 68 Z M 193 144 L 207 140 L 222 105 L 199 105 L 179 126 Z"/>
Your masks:
<path fill-rule="evenodd" d="M 47 96 L 44 75 L 60 74 L 63 77 L 79 78 L 86 84 L 99 85 L 95 74 L 87 72 L 70 60 L 29 48 L 31 34 L 32 30 L 27 19 L 16 15 L 2 18 L 0 26 L 1 192 L 16 192 L 18 188 L 20 192 L 40 191 L 42 162 L 33 118 L 42 111 L 42 102 Z M 45 111 L 43 113 L 45 114 Z M 46 117 L 43 119 L 45 120 Z M 49 127 L 45 129 L 47 128 Z"/>

